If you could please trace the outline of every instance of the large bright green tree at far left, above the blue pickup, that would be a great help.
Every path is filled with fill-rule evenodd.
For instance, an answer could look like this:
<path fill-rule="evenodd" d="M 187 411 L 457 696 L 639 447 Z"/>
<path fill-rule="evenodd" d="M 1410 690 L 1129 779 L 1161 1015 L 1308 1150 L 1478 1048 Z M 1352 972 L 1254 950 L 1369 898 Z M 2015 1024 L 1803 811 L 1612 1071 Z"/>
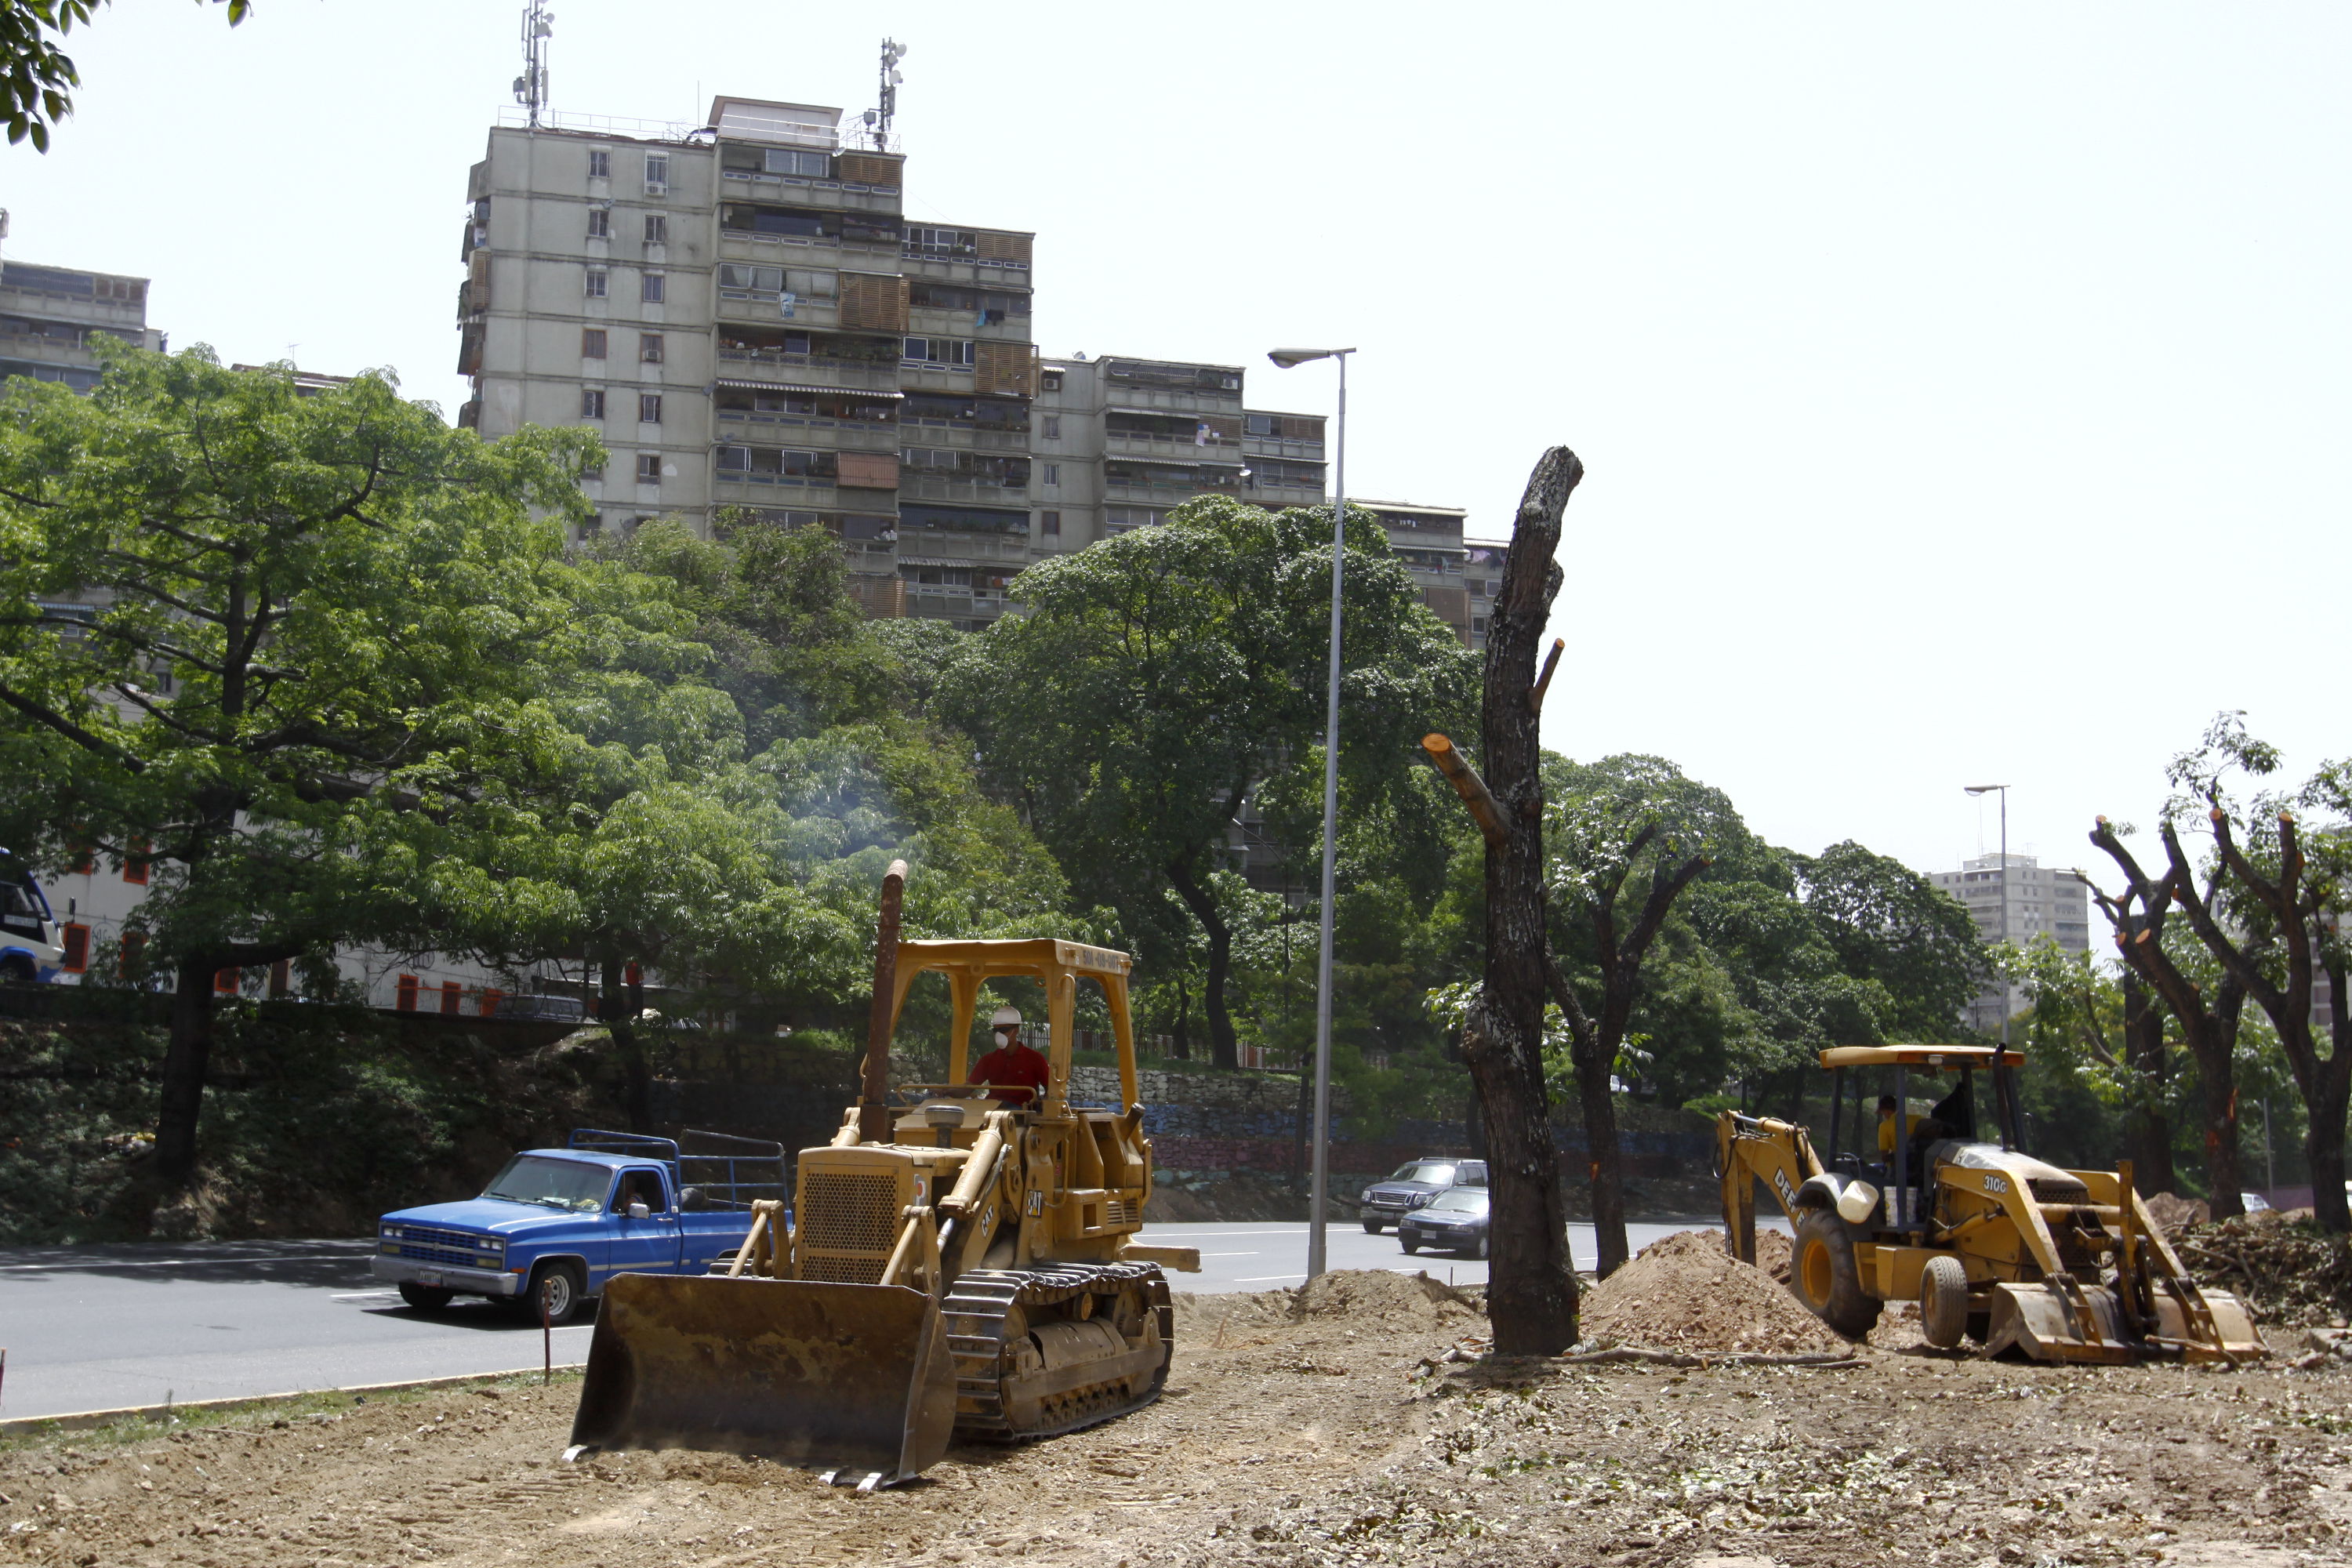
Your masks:
<path fill-rule="evenodd" d="M 38 858 L 153 865 L 155 1173 L 183 1185 L 216 971 L 473 919 L 463 867 L 515 827 L 480 780 L 555 736 L 557 538 L 600 451 L 485 447 L 381 374 L 303 397 L 106 353 L 89 397 L 0 390 L 0 769 L 42 785 L 9 823 Z"/>

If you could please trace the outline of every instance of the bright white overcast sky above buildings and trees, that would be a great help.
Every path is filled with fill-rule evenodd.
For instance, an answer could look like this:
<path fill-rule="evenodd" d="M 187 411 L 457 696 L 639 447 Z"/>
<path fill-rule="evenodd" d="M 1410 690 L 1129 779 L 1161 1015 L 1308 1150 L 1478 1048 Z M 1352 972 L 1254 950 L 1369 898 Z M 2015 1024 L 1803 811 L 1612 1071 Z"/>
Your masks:
<path fill-rule="evenodd" d="M 2089 865 L 2220 708 L 2298 773 L 2352 752 L 2343 7 L 555 12 L 572 113 L 856 110 L 908 42 L 908 214 L 1037 230 L 1047 353 L 1324 409 L 1263 350 L 1359 346 L 1357 494 L 1498 534 L 1576 447 L 1548 743 L 1672 757 L 1778 844 L 1950 867 L 2006 780 L 2011 849 Z M 0 153 L 7 254 L 454 409 L 517 14 L 118 0 L 52 153 Z"/>

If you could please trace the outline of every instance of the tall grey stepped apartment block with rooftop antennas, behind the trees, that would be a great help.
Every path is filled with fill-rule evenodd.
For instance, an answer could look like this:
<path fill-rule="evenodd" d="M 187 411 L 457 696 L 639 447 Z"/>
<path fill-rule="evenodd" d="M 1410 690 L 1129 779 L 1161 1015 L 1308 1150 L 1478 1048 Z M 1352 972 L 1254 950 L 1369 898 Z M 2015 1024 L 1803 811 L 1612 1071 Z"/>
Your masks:
<path fill-rule="evenodd" d="M 459 423 L 595 428 L 597 527 L 826 527 L 870 614 L 967 630 L 1030 562 L 1192 496 L 1327 501 L 1322 416 L 1244 407 L 1240 364 L 1040 360 L 1033 235 L 913 223 L 903 176 L 816 103 L 494 127 L 468 181 Z M 1461 510 L 1376 510 L 1482 644 Z"/>

